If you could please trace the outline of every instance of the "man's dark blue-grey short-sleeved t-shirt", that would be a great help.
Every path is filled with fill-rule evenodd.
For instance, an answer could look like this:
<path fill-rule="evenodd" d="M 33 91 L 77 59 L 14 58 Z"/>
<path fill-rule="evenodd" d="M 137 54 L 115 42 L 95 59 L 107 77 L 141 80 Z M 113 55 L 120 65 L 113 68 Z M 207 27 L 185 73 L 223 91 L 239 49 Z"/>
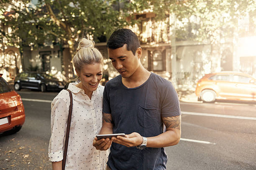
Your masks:
<path fill-rule="evenodd" d="M 127 88 L 121 75 L 108 81 L 103 93 L 103 112 L 113 119 L 113 133 L 139 133 L 144 137 L 163 133 L 161 117 L 181 114 L 171 82 L 151 73 L 139 87 Z M 112 170 L 166 170 L 164 148 L 126 147 L 112 143 L 108 166 Z"/>

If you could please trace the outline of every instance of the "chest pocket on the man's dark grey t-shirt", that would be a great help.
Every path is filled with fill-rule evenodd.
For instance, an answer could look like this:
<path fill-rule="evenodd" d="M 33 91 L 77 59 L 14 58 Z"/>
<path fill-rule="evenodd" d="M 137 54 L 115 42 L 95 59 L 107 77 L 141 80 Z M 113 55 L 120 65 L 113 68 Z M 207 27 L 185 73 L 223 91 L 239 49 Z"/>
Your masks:
<path fill-rule="evenodd" d="M 150 128 L 159 122 L 160 114 L 156 107 L 138 106 L 138 122 L 143 128 Z"/>

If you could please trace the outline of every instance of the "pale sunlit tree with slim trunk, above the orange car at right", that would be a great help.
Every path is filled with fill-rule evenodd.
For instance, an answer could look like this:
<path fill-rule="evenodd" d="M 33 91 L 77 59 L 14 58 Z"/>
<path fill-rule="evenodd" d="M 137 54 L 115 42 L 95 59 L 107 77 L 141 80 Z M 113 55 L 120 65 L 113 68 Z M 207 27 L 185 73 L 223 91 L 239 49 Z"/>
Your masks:
<path fill-rule="evenodd" d="M 220 40 L 244 35 L 245 25 L 239 25 L 239 22 L 246 16 L 250 20 L 246 34 L 256 34 L 255 0 L 131 0 L 126 7 L 130 8 L 131 14 L 145 9 L 153 11 L 156 20 L 175 15 L 176 40 L 210 40 L 212 71 L 220 63 L 214 62 L 220 60 Z"/>

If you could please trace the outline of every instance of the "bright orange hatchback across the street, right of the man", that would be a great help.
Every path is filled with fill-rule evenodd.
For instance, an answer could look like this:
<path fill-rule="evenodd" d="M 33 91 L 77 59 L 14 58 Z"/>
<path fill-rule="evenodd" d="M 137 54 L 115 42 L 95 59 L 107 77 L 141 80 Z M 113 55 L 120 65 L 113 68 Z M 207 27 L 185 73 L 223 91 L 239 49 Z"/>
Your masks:
<path fill-rule="evenodd" d="M 203 102 L 216 99 L 256 101 L 256 79 L 241 72 L 211 73 L 197 82 L 195 94 Z"/>

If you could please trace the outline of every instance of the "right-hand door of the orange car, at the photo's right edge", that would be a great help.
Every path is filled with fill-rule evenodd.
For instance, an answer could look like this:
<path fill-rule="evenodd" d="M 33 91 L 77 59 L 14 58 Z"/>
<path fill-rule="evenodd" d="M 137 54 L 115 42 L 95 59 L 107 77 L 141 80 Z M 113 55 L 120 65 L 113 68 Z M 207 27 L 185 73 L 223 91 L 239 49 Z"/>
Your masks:
<path fill-rule="evenodd" d="M 256 84 L 255 80 L 251 80 L 252 78 L 246 75 L 233 75 L 234 90 L 236 90 L 238 99 L 256 101 Z"/>

